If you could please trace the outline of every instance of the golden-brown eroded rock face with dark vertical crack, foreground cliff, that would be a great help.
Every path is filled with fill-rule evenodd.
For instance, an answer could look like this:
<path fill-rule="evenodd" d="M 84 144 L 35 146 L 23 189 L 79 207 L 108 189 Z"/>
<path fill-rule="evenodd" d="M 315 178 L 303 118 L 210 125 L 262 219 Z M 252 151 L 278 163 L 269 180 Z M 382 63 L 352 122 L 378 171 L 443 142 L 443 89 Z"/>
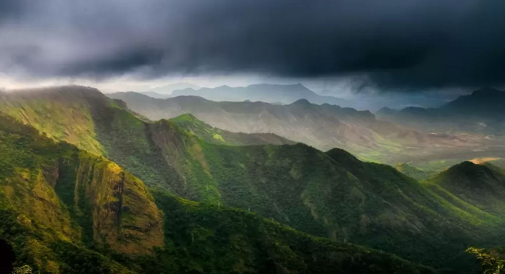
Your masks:
<path fill-rule="evenodd" d="M 90 201 L 95 244 L 129 255 L 163 246 L 162 214 L 142 181 L 107 160 L 82 159 L 77 173 L 85 176 L 78 176 L 75 199 L 83 189 Z"/>

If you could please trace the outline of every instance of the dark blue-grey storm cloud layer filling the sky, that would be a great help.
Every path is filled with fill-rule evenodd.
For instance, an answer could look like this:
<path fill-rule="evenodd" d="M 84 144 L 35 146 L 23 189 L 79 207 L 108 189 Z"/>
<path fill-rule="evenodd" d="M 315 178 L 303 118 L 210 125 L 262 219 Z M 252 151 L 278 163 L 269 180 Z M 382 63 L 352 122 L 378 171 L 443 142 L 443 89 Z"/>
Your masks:
<path fill-rule="evenodd" d="M 505 84 L 505 2 L 11 1 L 0 71 L 34 77 L 363 76 L 390 88 Z"/>

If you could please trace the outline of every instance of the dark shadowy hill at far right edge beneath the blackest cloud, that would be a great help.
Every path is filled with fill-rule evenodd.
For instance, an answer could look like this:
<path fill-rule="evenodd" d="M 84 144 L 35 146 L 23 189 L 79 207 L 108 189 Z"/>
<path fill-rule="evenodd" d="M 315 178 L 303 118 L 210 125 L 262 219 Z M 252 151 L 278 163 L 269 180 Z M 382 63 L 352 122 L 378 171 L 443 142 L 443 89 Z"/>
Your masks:
<path fill-rule="evenodd" d="M 418 129 L 444 132 L 505 134 L 505 92 L 483 88 L 439 108 L 383 108 L 380 119 Z"/>

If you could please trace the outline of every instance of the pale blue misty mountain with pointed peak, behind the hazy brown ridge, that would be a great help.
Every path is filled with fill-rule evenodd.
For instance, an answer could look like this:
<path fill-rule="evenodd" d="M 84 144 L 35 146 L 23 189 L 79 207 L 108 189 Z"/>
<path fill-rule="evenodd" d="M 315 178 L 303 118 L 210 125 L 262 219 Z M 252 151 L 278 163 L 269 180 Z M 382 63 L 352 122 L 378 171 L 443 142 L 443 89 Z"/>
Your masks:
<path fill-rule="evenodd" d="M 172 97 L 181 95 L 200 96 L 213 101 L 262 101 L 267 103 L 290 104 L 299 99 L 306 99 L 314 104 L 332 104 L 340 106 L 351 106 L 352 102 L 336 98 L 333 96 L 318 95 L 309 90 L 304 85 L 274 85 L 274 84 L 255 84 L 247 87 L 229 87 L 221 86 L 217 88 L 187 88 L 176 90 Z"/>

